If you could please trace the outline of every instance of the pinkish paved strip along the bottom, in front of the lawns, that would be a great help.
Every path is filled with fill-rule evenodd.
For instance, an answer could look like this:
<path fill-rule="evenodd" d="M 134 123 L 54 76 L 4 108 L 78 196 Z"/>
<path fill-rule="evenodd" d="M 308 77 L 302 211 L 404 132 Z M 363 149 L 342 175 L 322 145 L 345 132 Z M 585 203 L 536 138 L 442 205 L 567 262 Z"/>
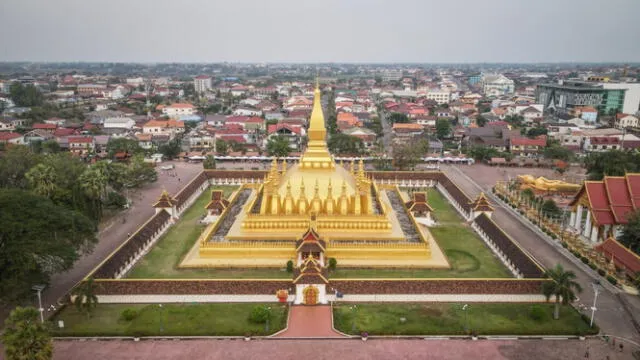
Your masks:
<path fill-rule="evenodd" d="M 631 346 L 619 352 L 603 341 L 579 340 L 157 340 L 57 341 L 54 360 L 124 359 L 474 359 L 632 360 Z M 0 345 L 0 353 L 3 353 Z M 0 359 L 2 359 L 0 354 Z"/>

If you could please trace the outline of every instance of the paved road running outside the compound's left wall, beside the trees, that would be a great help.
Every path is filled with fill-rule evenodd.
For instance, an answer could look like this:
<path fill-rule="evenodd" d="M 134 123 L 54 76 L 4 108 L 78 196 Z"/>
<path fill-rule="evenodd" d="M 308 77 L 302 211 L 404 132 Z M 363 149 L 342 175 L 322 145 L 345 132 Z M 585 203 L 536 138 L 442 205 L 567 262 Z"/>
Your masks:
<path fill-rule="evenodd" d="M 163 163 L 166 165 L 168 163 Z M 176 176 L 158 169 L 158 181 L 148 184 L 142 189 L 129 193 L 132 205 L 128 210 L 121 212 L 109 219 L 107 224 L 102 224 L 98 234 L 98 243 L 90 254 L 83 255 L 69 271 L 57 274 L 51 278 L 51 283 L 43 292 L 42 304 L 44 309 L 56 304 L 78 281 L 82 280 L 91 270 L 100 264 L 126 239 L 128 233 L 133 233 L 154 213 L 151 205 L 157 200 L 162 189 L 170 194 L 175 194 L 191 179 L 202 171 L 202 164 L 188 164 L 175 162 Z M 126 222 L 123 222 L 126 220 Z M 34 296 L 34 305 L 37 306 L 37 297 Z M 45 310 L 47 315 L 48 310 Z"/>

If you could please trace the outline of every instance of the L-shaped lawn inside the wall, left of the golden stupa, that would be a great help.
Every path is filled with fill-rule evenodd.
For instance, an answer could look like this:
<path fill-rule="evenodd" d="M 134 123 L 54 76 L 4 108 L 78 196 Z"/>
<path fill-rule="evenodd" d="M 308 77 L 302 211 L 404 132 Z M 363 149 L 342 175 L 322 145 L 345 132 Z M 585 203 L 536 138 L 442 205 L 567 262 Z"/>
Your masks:
<path fill-rule="evenodd" d="M 279 269 L 178 269 L 178 264 L 198 240 L 206 225 L 198 221 L 206 213 L 205 206 L 211 198 L 211 190 L 224 190 L 229 197 L 237 186 L 213 186 L 182 214 L 178 222 L 158 240 L 151 251 L 135 265 L 127 278 L 130 279 L 189 279 L 189 278 L 289 278 L 290 274 Z"/>

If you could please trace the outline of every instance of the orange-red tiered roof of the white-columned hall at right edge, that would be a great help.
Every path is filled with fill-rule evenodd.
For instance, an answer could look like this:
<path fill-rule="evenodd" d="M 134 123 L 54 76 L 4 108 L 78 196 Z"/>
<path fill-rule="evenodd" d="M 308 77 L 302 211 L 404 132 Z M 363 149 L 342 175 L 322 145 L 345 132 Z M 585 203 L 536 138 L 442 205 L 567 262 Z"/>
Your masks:
<path fill-rule="evenodd" d="M 585 181 L 569 205 L 578 203 L 589 208 L 597 225 L 626 224 L 627 216 L 640 209 L 640 173 Z"/>

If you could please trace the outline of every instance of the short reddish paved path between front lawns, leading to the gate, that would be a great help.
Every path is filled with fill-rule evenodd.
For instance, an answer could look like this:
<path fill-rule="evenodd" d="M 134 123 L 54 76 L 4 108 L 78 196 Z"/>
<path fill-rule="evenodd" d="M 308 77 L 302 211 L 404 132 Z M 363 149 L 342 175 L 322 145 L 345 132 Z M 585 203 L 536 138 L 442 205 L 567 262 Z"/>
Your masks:
<path fill-rule="evenodd" d="M 331 326 L 331 306 L 294 305 L 290 311 L 289 327 L 276 337 L 342 337 Z"/>

